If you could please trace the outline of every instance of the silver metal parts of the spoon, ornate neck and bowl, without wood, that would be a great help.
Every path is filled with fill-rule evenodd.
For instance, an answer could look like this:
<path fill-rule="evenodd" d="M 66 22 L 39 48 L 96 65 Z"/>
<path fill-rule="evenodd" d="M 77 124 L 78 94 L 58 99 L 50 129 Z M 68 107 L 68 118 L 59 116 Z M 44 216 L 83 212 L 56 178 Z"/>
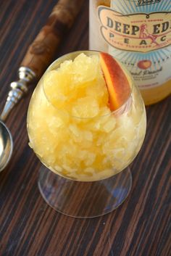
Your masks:
<path fill-rule="evenodd" d="M 36 74 L 28 67 L 20 67 L 18 75 L 20 79 L 10 84 L 11 91 L 9 91 L 4 110 L 0 116 L 0 172 L 7 166 L 13 151 L 12 134 L 4 121 L 7 119 L 9 112 L 28 91 L 28 83 L 33 82 L 36 78 Z"/>

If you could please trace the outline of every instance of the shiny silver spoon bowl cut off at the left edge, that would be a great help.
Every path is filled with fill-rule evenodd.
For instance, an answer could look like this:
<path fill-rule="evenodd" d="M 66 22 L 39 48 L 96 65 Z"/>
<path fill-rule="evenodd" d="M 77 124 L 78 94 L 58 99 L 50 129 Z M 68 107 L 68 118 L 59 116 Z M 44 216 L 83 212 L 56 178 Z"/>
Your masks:
<path fill-rule="evenodd" d="M 0 172 L 12 157 L 13 140 L 7 126 L 0 120 Z"/>

